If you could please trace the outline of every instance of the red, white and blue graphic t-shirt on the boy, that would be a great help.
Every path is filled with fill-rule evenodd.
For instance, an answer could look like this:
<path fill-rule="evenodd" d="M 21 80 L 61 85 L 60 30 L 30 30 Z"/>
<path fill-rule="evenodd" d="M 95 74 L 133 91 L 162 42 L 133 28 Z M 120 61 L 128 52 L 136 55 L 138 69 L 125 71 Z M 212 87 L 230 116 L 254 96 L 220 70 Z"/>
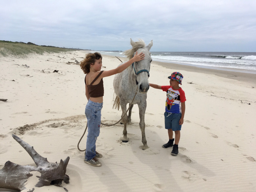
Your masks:
<path fill-rule="evenodd" d="M 161 89 L 167 93 L 165 111 L 168 113 L 181 113 L 181 102 L 186 101 L 185 92 L 181 87 L 178 90 L 174 90 L 170 85 L 167 85 L 161 86 Z"/>

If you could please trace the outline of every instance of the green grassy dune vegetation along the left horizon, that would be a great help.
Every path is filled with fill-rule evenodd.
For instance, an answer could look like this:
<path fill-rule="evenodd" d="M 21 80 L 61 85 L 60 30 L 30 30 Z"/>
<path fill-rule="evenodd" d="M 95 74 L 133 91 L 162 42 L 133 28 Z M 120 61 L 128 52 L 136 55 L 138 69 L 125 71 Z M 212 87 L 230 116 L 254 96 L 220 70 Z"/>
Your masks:
<path fill-rule="evenodd" d="M 60 53 L 76 51 L 81 49 L 70 49 L 70 48 L 60 48 L 54 46 L 46 45 L 36 45 L 34 43 L 28 42 L 12 42 L 12 41 L 1 41 L 0 40 L 0 57 L 2 56 L 14 56 L 14 57 L 24 57 L 28 54 L 44 54 L 44 53 Z"/>

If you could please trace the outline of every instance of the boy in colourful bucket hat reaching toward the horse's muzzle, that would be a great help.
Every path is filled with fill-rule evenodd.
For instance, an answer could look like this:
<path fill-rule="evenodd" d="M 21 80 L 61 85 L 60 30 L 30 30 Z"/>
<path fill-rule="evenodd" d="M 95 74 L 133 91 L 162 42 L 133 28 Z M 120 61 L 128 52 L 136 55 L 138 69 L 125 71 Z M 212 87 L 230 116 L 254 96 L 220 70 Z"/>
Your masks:
<path fill-rule="evenodd" d="M 181 137 L 181 125 L 184 121 L 185 114 L 185 93 L 179 86 L 183 76 L 179 72 L 173 72 L 170 79 L 170 85 L 160 86 L 149 83 L 150 87 L 161 89 L 167 93 L 164 112 L 165 129 L 168 130 L 169 141 L 164 144 L 163 148 L 173 146 L 171 155 L 178 155 L 178 144 Z M 173 131 L 175 132 L 175 144 L 173 144 Z"/>

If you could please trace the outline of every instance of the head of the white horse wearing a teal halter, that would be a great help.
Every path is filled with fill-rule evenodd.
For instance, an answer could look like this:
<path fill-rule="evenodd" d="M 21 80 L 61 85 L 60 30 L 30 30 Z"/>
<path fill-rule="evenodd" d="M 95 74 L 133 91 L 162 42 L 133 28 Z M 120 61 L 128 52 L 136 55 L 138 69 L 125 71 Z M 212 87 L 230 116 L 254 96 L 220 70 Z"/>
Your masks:
<path fill-rule="evenodd" d="M 132 70 L 133 74 L 135 75 L 136 84 L 139 87 L 140 93 L 147 93 L 149 89 L 149 83 L 148 83 L 148 77 L 149 77 L 149 71 L 150 71 L 150 63 L 152 61 L 151 53 L 149 52 L 150 48 L 153 45 L 153 40 L 150 41 L 150 43 L 145 46 L 145 43 L 143 40 L 139 40 L 138 42 L 134 42 L 131 39 L 131 45 L 132 49 L 125 51 L 124 53 L 126 56 L 130 59 L 133 57 L 133 55 L 136 53 L 144 53 L 145 57 L 143 60 L 139 62 L 134 62 L 132 64 Z"/>

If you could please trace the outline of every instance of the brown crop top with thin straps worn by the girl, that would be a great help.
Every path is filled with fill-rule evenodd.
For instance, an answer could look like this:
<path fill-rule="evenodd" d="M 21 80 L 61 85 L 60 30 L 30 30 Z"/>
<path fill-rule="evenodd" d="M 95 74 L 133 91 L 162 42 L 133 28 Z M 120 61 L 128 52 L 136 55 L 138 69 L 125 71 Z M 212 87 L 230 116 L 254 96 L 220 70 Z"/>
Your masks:
<path fill-rule="evenodd" d="M 103 71 L 99 72 L 99 74 L 96 76 L 96 78 L 92 81 L 90 85 L 86 85 L 86 81 L 85 81 L 86 75 L 85 75 L 84 82 L 89 89 L 90 97 L 104 96 L 103 78 L 100 80 L 100 82 L 97 85 L 92 85 L 102 73 Z"/>

